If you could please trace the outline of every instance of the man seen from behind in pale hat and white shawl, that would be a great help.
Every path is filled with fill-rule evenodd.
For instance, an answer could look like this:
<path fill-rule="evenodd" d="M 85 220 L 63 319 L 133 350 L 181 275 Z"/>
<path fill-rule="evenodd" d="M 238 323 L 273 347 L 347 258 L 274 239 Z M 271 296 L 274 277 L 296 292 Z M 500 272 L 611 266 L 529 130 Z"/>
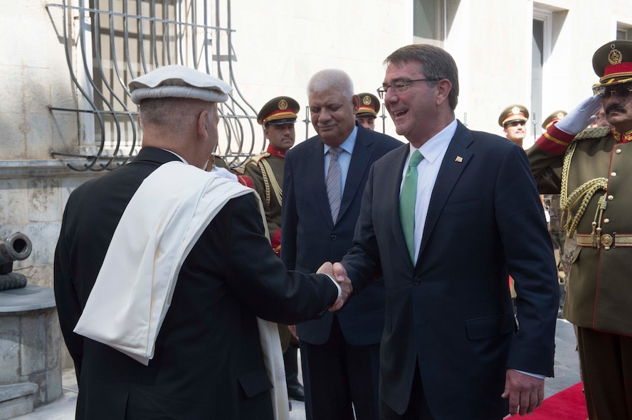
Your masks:
<path fill-rule="evenodd" d="M 166 66 L 132 80 L 132 100 L 140 105 L 142 150 L 131 163 L 80 185 L 68 199 L 55 254 L 54 286 L 60 325 L 78 377 L 77 419 L 287 419 L 285 384 L 273 390 L 278 378 L 266 373 L 272 368 L 266 360 L 276 349 L 280 352 L 278 334 L 266 348 L 257 317 L 305 321 L 322 316 L 337 302 L 337 295 L 344 300 L 349 292 L 349 285 L 342 284 L 340 295 L 339 286 L 323 274 L 286 271 L 265 236 L 260 205 L 251 190 L 201 170 L 218 138 L 217 103 L 225 102 L 230 90 L 221 80 L 182 66 Z M 135 252 L 134 244 L 119 241 L 117 247 L 109 247 L 117 235 L 127 233 L 118 226 L 130 230 L 132 238 L 137 231 L 146 234 L 143 229 L 151 235 L 154 227 L 141 225 L 162 210 L 157 202 L 173 200 L 177 210 L 189 205 L 179 196 L 188 186 L 186 178 L 175 189 L 158 185 L 157 191 L 149 191 L 154 195 L 145 194 L 138 203 L 148 183 L 168 168 L 174 175 L 184 171 L 210 185 L 222 185 L 227 193 L 243 194 L 217 206 L 211 222 L 201 225 L 199 239 L 189 243 L 191 249 L 174 273 L 173 294 L 162 305 L 168 307 L 162 327 L 149 343 L 153 357 L 141 363 L 112 348 L 115 343 L 106 345 L 73 329 L 90 311 L 115 304 L 117 296 L 137 296 L 137 288 L 146 281 L 146 276 L 137 276 L 134 284 L 111 295 L 97 293 L 110 282 L 127 279 L 127 271 L 116 272 L 117 263 L 138 265 L 129 254 Z M 196 216 L 205 213 L 197 210 Z M 174 217 L 167 228 L 182 221 Z M 164 249 L 174 246 L 179 244 L 159 242 L 155 252 L 149 252 L 149 259 L 155 255 L 154 266 L 161 264 Z M 120 258 L 112 261 L 110 254 Z M 114 275 L 102 279 L 106 266 L 115 267 Z M 155 272 L 149 281 L 162 275 Z M 142 302 L 132 302 L 132 313 L 144 315 L 135 310 L 137 304 Z M 153 311 L 159 309 L 152 306 Z M 137 321 L 130 316 L 120 320 L 119 327 Z M 100 318 L 97 332 L 103 325 L 117 324 Z M 117 333 L 117 328 L 112 330 Z M 283 395 L 285 406 L 271 403 Z"/>

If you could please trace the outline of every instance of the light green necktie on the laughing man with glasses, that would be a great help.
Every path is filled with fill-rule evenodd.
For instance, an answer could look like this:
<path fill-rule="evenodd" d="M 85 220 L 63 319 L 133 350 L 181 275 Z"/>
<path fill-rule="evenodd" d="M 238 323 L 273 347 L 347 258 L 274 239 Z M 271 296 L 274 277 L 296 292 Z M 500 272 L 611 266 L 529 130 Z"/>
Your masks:
<path fill-rule="evenodd" d="M 415 264 L 415 201 L 417 200 L 417 165 L 423 160 L 423 155 L 414 151 L 409 166 L 404 175 L 404 183 L 401 185 L 399 195 L 399 218 L 401 228 L 404 230 L 406 246 L 411 254 L 411 260 Z"/>

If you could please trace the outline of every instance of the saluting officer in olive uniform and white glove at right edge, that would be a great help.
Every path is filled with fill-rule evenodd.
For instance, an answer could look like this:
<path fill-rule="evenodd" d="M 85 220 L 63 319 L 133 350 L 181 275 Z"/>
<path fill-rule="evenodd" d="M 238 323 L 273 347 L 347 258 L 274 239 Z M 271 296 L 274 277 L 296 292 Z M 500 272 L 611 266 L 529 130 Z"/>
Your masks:
<path fill-rule="evenodd" d="M 602 45 L 592 65 L 594 97 L 528 155 L 539 190 L 560 193 L 578 245 L 563 316 L 577 326 L 588 414 L 632 419 L 632 41 Z M 601 104 L 613 128 L 586 129 Z"/>

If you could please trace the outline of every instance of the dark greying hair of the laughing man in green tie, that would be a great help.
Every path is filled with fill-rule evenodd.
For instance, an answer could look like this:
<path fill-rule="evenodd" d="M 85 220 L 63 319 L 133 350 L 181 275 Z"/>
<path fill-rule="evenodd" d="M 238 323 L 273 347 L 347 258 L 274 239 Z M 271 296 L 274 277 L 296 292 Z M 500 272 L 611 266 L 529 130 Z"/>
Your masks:
<path fill-rule="evenodd" d="M 458 103 L 458 69 L 452 55 L 443 48 L 428 44 L 412 44 L 401 47 L 391 53 L 385 65 L 418 62 L 419 69 L 428 79 L 448 79 L 452 83 L 452 90 L 448 95 L 448 103 L 452 110 Z M 428 86 L 436 82 L 427 82 Z"/>

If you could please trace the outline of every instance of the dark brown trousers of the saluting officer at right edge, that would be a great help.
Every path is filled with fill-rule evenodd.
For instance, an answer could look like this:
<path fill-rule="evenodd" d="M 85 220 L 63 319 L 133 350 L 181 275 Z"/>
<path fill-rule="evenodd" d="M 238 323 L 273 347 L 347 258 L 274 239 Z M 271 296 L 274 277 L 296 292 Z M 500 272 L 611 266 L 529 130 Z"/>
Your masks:
<path fill-rule="evenodd" d="M 632 337 L 577 327 L 590 420 L 632 419 Z"/>

